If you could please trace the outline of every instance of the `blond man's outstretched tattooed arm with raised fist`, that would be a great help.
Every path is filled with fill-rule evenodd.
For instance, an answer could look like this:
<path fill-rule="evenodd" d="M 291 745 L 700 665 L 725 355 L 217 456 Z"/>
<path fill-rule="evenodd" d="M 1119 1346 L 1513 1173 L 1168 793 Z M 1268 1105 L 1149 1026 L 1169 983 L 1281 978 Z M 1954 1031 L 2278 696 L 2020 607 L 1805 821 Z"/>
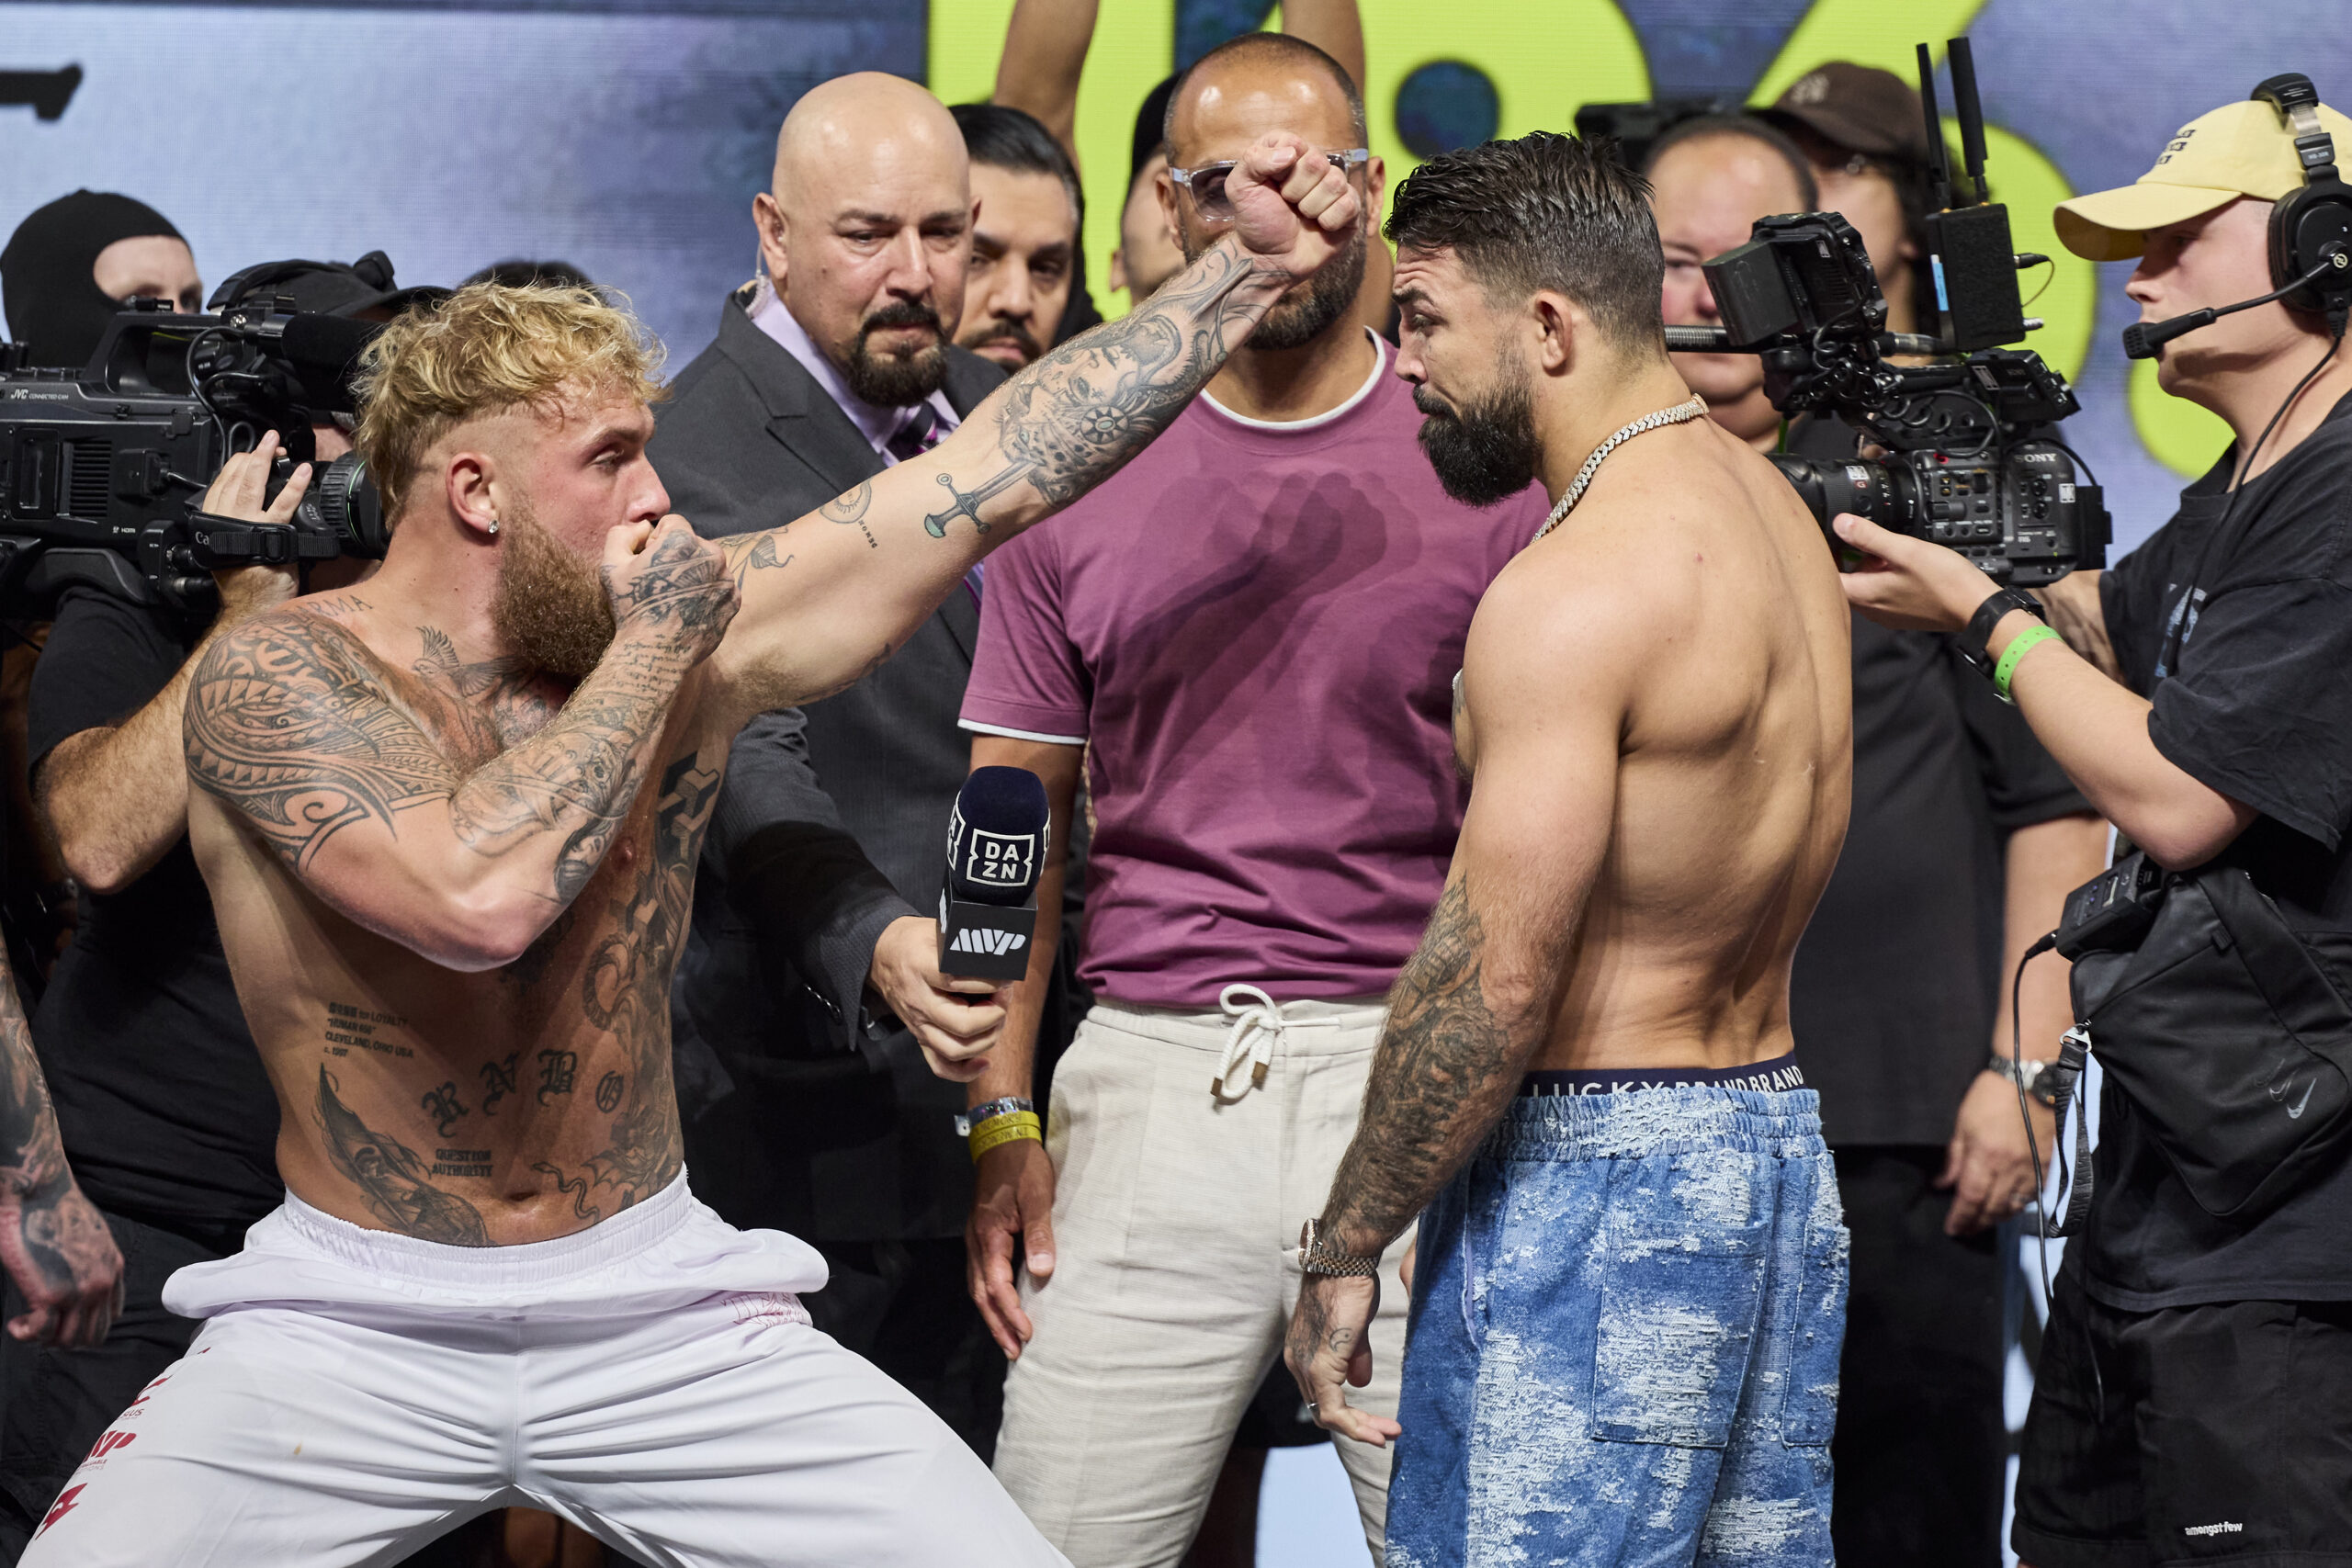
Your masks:
<path fill-rule="evenodd" d="M 924 456 L 800 522 L 727 541 L 743 614 L 713 665 L 731 717 L 840 691 L 889 658 L 993 545 L 1167 430 L 1357 221 L 1345 176 L 1294 136 L 1251 148 L 1230 188 L 1235 233 L 1148 306 L 1021 371 Z"/>

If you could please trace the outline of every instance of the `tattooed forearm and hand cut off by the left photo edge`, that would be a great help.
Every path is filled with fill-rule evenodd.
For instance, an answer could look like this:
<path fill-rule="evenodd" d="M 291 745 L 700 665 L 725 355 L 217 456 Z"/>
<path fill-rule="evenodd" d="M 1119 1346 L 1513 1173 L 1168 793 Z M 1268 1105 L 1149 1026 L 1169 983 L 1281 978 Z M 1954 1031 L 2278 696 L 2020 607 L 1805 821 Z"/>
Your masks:
<path fill-rule="evenodd" d="M 0 961 L 0 1265 L 24 1293 L 9 1338 L 96 1345 L 122 1312 L 122 1253 L 66 1168 L 16 980 Z"/>

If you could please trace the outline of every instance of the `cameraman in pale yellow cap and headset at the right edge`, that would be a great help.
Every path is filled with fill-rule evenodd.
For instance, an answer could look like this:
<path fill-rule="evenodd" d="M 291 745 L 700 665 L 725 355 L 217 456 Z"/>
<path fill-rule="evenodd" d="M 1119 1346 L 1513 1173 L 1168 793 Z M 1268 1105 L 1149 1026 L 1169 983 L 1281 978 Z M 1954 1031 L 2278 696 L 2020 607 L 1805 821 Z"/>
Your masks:
<path fill-rule="evenodd" d="M 2305 132 L 2352 153 L 2352 122 L 2317 115 Z M 2183 127 L 2136 186 L 2063 202 L 2058 235 L 2093 261 L 2138 256 L 2126 292 L 2145 320 L 2258 301 L 2310 263 L 2296 242 L 2274 275 L 2267 233 L 2272 205 L 2303 183 L 2281 110 L 2230 103 Z M 1875 557 L 1846 576 L 1856 607 L 1962 632 L 1997 658 L 1994 684 L 2138 849 L 2171 872 L 2246 872 L 2303 952 L 2340 976 L 2352 973 L 2347 294 L 2333 292 L 2333 313 L 2253 303 L 2164 348 L 2161 388 L 2237 440 L 2145 545 L 2044 590 L 2049 628 L 1987 599 L 1959 555 L 1837 520 Z M 2176 882 L 2159 922 L 2204 886 Z M 2232 1001 L 2180 994 L 2176 1032 Z M 2093 1048 L 2129 1063 L 2147 1044 L 2110 1032 Z M 2152 1105 L 2124 1095 L 2110 1067 L 2093 1199 L 2044 1333 L 2013 1544 L 2034 1568 L 2347 1561 L 2352 1161 L 2317 1159 L 2272 1208 L 2225 1220 L 2159 1147 Z M 2239 1135 L 2218 1117 L 2183 1126 L 2173 1140 Z"/>

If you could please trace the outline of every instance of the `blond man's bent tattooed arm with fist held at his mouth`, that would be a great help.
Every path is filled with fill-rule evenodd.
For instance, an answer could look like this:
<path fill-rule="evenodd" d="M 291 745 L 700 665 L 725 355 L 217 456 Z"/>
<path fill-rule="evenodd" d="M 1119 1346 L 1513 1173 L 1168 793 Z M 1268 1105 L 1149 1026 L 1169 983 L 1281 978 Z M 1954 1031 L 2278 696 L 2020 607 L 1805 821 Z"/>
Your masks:
<path fill-rule="evenodd" d="M 353 922 L 449 969 L 510 964 L 595 875 L 680 682 L 734 616 L 717 548 L 675 517 L 614 529 L 604 588 L 604 658 L 473 773 L 388 698 L 358 635 L 301 607 L 252 621 L 198 665 L 188 776 Z"/>

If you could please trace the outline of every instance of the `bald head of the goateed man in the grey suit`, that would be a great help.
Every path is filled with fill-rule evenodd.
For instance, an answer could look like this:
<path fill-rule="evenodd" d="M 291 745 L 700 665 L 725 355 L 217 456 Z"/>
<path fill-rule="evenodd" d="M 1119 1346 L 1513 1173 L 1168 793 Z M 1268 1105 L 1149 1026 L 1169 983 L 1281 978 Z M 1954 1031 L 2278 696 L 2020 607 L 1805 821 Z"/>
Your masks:
<path fill-rule="evenodd" d="M 880 71 L 811 87 L 753 221 L 776 299 L 856 397 L 938 390 L 971 266 L 964 134 L 938 99 Z"/>

